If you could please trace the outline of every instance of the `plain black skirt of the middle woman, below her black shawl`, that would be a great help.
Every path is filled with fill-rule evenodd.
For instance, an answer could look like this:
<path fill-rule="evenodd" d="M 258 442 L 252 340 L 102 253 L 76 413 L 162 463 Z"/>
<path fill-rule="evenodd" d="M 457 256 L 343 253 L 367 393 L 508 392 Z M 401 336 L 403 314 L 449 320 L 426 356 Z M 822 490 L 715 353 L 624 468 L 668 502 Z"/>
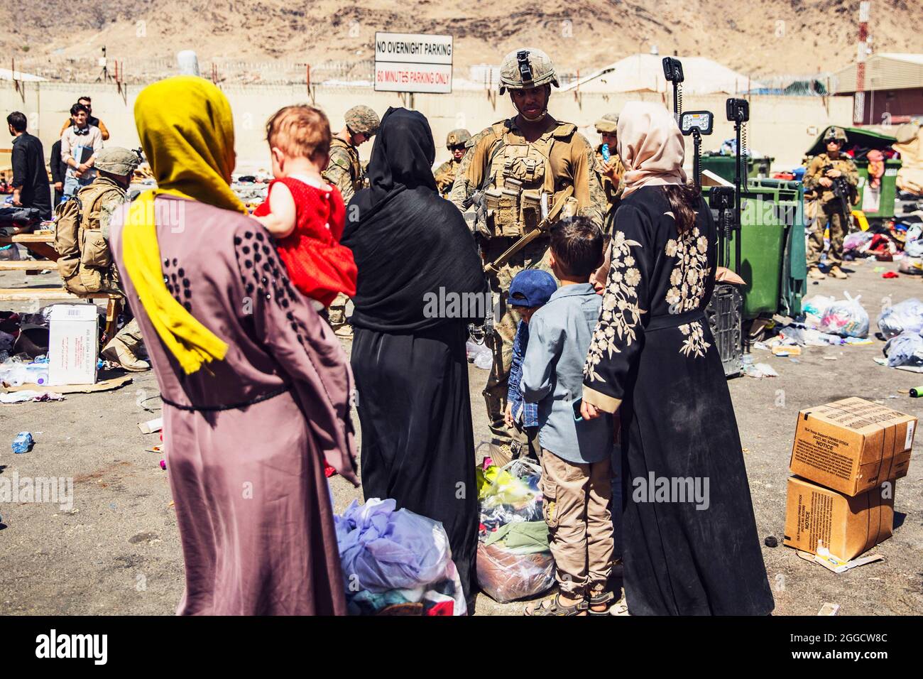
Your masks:
<path fill-rule="evenodd" d="M 477 550 L 467 327 L 416 333 L 356 328 L 352 364 L 362 426 L 362 491 L 442 522 L 469 599 Z"/>

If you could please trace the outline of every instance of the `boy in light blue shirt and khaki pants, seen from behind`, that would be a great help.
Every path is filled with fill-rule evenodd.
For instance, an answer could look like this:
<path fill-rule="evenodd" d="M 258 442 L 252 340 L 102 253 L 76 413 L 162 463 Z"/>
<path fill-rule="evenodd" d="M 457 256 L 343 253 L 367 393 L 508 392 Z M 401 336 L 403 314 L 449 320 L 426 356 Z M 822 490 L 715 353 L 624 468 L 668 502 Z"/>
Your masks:
<path fill-rule="evenodd" d="M 603 261 L 603 232 L 575 217 L 551 229 L 551 270 L 560 286 L 529 323 L 521 390 L 538 405 L 545 523 L 558 593 L 530 615 L 608 614 L 614 600 L 611 416 L 580 414 L 583 364 L 603 298 L 589 282 Z"/>

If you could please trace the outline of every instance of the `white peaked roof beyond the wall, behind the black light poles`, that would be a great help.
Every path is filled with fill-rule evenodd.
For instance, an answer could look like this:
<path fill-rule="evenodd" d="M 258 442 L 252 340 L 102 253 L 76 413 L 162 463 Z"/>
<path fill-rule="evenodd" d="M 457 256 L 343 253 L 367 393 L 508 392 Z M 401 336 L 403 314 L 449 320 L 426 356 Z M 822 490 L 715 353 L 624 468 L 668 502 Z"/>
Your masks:
<path fill-rule="evenodd" d="M 761 87 L 749 76 L 705 58 L 704 56 L 676 57 L 683 65 L 683 91 L 687 94 L 725 92 L 735 94 Z M 562 87 L 562 90 L 580 91 L 668 91 L 664 78 L 664 57 L 661 55 L 630 55 L 621 61 L 593 71 Z"/>

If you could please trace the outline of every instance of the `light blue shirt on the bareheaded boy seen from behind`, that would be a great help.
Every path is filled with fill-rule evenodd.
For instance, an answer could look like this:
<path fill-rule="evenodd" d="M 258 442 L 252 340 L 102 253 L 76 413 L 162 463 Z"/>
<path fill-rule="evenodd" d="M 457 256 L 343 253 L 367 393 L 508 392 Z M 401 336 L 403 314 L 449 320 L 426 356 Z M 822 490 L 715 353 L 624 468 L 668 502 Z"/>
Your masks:
<path fill-rule="evenodd" d="M 522 394 L 538 404 L 538 443 L 576 464 L 601 462 L 614 445 L 611 415 L 578 421 L 573 408 L 583 394 L 583 364 L 602 304 L 589 283 L 557 288 L 529 322 L 522 361 Z"/>

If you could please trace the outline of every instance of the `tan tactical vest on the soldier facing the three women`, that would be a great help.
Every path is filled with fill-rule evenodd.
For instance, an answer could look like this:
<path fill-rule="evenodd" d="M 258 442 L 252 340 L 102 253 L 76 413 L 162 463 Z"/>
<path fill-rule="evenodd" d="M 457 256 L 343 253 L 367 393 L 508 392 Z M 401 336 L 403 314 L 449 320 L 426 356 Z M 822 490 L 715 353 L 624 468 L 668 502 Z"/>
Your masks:
<path fill-rule="evenodd" d="M 488 237 L 524 236 L 542 221 L 542 194 L 547 194 L 547 208 L 557 194 L 573 184 L 569 176 L 556 177 L 551 170 L 551 150 L 557 143 L 569 144 L 577 127 L 558 123 L 532 143 L 514 135 L 509 121 L 493 127 L 484 174 Z M 576 212 L 576 200 L 565 214 Z"/>

